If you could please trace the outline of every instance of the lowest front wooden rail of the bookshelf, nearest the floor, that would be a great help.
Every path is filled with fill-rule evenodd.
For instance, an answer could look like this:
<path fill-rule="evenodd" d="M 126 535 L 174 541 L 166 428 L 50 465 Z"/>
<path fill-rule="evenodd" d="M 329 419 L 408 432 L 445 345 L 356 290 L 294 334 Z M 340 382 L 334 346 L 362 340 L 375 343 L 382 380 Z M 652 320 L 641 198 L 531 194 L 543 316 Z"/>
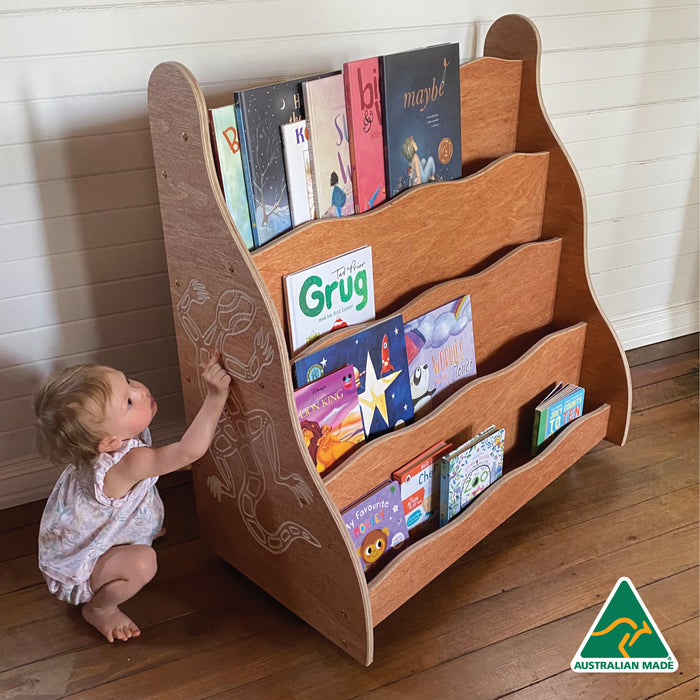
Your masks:
<path fill-rule="evenodd" d="M 610 406 L 570 423 L 546 450 L 515 469 L 440 528 L 397 557 L 370 583 L 377 625 L 544 489 L 605 437 Z"/>

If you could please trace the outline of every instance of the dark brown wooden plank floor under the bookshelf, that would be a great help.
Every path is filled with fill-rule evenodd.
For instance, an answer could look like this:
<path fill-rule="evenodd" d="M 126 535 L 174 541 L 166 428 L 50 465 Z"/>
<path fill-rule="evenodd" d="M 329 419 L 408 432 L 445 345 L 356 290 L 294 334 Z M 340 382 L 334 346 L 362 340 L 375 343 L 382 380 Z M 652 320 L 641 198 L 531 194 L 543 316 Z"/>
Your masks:
<path fill-rule="evenodd" d="M 629 359 L 627 445 L 599 445 L 385 620 L 369 668 L 207 551 L 189 474 L 162 482 L 168 534 L 126 644 L 42 584 L 43 504 L 0 511 L 0 697 L 697 698 L 698 338 Z M 620 576 L 678 672 L 569 670 Z"/>

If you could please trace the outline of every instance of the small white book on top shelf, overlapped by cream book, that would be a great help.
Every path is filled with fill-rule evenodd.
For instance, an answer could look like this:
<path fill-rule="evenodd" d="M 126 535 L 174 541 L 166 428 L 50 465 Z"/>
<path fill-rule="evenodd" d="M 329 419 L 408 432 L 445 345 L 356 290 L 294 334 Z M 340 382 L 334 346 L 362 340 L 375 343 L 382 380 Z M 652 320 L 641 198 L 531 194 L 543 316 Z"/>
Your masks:
<path fill-rule="evenodd" d="M 282 124 L 280 131 L 292 226 L 299 226 L 316 218 L 306 119 Z"/>

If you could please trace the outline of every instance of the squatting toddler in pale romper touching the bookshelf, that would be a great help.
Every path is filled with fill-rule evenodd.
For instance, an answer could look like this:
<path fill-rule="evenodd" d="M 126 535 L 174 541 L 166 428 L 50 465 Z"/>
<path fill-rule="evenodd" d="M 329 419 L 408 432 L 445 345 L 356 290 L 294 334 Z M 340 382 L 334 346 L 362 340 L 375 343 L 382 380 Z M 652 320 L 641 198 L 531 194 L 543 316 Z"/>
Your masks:
<path fill-rule="evenodd" d="M 158 406 L 122 372 L 77 365 L 54 372 L 34 399 L 38 441 L 68 465 L 49 496 L 39 528 L 39 568 L 59 600 L 83 605 L 85 620 L 109 642 L 141 634 L 119 604 L 156 573 L 154 538 L 163 534 L 155 483 L 209 449 L 231 377 L 218 351 L 205 365 L 204 403 L 182 439 L 150 447 Z"/>

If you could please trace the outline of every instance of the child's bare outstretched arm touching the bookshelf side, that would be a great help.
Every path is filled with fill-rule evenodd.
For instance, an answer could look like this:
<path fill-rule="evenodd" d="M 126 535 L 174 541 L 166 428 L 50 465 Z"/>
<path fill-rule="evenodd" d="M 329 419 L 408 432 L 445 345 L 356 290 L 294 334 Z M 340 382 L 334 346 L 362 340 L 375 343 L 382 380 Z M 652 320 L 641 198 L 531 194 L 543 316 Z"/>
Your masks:
<path fill-rule="evenodd" d="M 179 442 L 164 447 L 137 447 L 127 452 L 105 474 L 104 492 L 107 496 L 120 498 L 139 481 L 186 467 L 209 449 L 228 398 L 231 377 L 219 364 L 218 350 L 206 365 L 202 363 L 200 367 L 207 395 L 185 434 Z"/>

